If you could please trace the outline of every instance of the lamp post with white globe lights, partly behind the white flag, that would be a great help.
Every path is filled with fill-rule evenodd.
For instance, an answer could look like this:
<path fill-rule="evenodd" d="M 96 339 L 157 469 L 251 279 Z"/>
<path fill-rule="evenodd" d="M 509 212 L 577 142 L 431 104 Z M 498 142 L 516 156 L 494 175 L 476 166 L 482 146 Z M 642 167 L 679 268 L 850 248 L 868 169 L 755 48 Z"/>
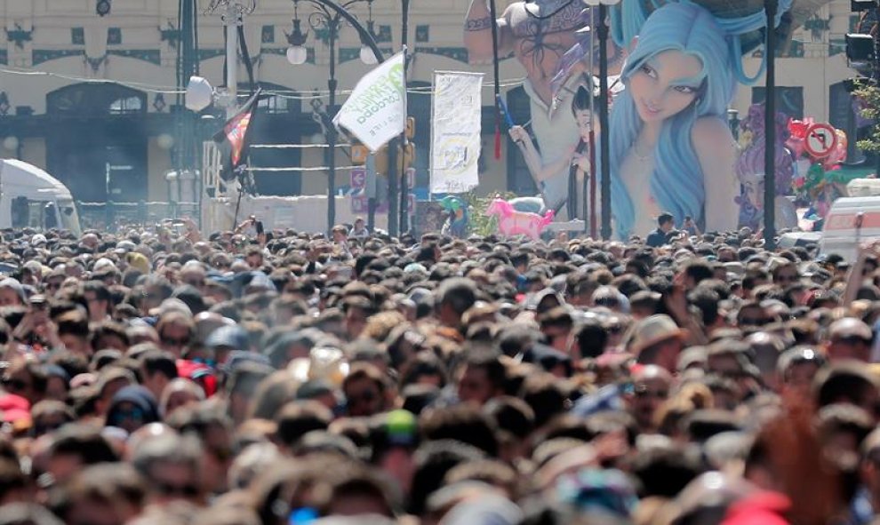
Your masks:
<path fill-rule="evenodd" d="M 336 222 L 336 141 L 337 131 L 332 125 L 332 115 L 335 115 L 339 107 L 336 107 L 336 90 L 339 86 L 336 80 L 336 44 L 339 39 L 340 29 L 348 22 L 354 27 L 361 38 L 360 57 L 364 63 L 372 65 L 383 60 L 382 53 L 376 45 L 375 39 L 368 28 L 364 28 L 357 19 L 348 12 L 348 8 L 354 4 L 367 3 L 372 7 L 373 0 L 348 0 L 348 2 L 336 3 L 331 0 L 293 0 L 293 30 L 287 36 L 290 47 L 287 49 L 287 60 L 293 65 L 304 64 L 308 60 L 308 51 L 304 47 L 308 39 L 308 33 L 302 32 L 300 21 L 300 3 L 309 4 L 314 11 L 308 14 L 308 25 L 314 31 L 323 32 L 326 35 L 326 44 L 330 50 L 330 76 L 327 78 L 327 90 L 329 91 L 328 104 L 324 107 L 322 115 L 318 115 L 324 125 L 327 147 L 324 158 L 326 159 L 327 171 L 327 230 L 329 231 Z"/>

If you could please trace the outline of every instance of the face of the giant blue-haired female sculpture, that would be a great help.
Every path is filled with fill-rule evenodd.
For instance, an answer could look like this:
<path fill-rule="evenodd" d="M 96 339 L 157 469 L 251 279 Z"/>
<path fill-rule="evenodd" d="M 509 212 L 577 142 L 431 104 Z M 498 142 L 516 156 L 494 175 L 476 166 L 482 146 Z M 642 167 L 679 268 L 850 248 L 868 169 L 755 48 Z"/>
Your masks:
<path fill-rule="evenodd" d="M 662 122 L 688 107 L 700 90 L 700 59 L 677 50 L 659 52 L 629 80 L 638 115 L 645 123 Z"/>

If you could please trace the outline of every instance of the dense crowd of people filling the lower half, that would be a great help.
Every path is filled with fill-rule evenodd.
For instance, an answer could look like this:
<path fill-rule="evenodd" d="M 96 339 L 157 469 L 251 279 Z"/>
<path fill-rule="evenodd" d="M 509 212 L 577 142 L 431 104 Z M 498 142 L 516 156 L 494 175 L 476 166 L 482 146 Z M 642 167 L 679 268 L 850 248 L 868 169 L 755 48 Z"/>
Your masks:
<path fill-rule="evenodd" d="M 880 245 L 2 232 L 0 525 L 880 513 Z"/>

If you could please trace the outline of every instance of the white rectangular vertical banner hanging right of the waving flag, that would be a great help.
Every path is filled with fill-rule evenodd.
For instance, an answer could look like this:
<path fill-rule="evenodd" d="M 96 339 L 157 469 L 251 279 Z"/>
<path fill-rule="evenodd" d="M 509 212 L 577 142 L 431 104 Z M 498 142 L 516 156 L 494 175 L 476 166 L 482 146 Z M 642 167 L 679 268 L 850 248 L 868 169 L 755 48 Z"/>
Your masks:
<path fill-rule="evenodd" d="M 479 184 L 482 88 L 482 73 L 434 74 L 431 193 L 459 194 Z"/>

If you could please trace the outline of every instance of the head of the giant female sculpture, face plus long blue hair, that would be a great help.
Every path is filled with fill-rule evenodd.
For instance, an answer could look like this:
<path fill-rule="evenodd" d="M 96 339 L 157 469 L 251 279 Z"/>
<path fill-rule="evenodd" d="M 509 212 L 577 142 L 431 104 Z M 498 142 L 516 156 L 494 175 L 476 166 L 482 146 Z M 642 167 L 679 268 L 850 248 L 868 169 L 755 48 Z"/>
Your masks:
<path fill-rule="evenodd" d="M 636 35 L 624 35 L 629 40 Z M 654 148 L 652 191 L 661 208 L 676 217 L 703 217 L 705 189 L 694 163 L 691 131 L 701 116 L 724 118 L 736 84 L 725 32 L 696 4 L 665 4 L 638 31 L 621 79 L 628 89 L 611 115 L 612 173 L 645 125 L 662 126 Z M 675 131 L 673 131 L 675 130 Z M 636 206 L 620 178 L 612 181 L 612 209 L 620 234 L 633 227 Z M 681 191 L 687 187 L 689 191 Z"/>

